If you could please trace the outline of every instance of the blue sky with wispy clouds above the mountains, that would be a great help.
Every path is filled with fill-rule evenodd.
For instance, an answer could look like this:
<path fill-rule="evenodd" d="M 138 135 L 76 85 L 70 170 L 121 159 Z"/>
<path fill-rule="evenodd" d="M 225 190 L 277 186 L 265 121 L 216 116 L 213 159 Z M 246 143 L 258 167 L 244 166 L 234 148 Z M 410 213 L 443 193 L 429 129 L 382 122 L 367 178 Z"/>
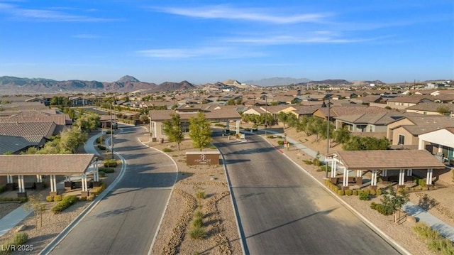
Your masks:
<path fill-rule="evenodd" d="M 0 76 L 454 79 L 454 1 L 4 1 Z"/>

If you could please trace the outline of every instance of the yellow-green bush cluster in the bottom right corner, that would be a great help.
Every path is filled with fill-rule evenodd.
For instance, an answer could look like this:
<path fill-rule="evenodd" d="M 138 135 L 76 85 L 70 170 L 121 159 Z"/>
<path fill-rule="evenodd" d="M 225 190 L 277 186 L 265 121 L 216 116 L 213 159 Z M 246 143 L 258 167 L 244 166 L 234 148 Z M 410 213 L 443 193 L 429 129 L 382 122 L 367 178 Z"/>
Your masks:
<path fill-rule="evenodd" d="M 426 246 L 429 250 L 439 254 L 454 254 L 454 244 L 449 239 L 441 236 L 440 233 L 428 227 L 423 222 L 418 222 L 413 231 L 420 237 L 426 239 Z"/>

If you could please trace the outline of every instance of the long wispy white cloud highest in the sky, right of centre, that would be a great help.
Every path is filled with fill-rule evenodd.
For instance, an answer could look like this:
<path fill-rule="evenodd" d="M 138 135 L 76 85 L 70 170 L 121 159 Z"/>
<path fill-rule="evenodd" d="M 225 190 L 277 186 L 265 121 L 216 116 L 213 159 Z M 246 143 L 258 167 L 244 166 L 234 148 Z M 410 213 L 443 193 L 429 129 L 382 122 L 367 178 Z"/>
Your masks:
<path fill-rule="evenodd" d="M 276 11 L 271 9 L 255 8 L 233 8 L 231 6 L 201 6 L 194 8 L 177 8 L 167 7 L 154 9 L 164 13 L 171 13 L 180 16 L 194 18 L 223 18 L 232 20 L 260 21 L 267 23 L 288 24 L 288 23 L 306 23 L 321 22 L 324 18 L 331 16 L 329 13 L 301 13 L 297 15 L 276 15 Z"/>

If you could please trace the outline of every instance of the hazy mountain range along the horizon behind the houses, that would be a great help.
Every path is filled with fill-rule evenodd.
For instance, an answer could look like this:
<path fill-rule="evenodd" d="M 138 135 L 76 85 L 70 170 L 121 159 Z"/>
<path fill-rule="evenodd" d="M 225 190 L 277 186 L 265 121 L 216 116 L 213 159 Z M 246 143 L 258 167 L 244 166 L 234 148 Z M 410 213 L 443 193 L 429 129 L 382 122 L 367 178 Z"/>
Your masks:
<path fill-rule="evenodd" d="M 272 77 L 262 80 L 247 80 L 238 82 L 237 80 L 226 80 L 216 82 L 214 84 L 207 83 L 205 85 L 193 85 L 186 80 L 182 82 L 162 82 L 156 85 L 153 82 L 140 82 L 140 80 L 130 75 L 121 77 L 116 82 L 98 82 L 87 80 L 65 80 L 57 81 L 43 78 L 19 78 L 11 76 L 0 77 L 0 95 L 13 94 L 56 94 L 56 93 L 103 93 L 103 92 L 166 92 L 166 91 L 182 91 L 201 88 L 210 88 L 218 90 L 226 89 L 253 89 L 256 86 L 285 86 L 285 85 L 331 85 L 331 86 L 356 86 L 370 85 L 370 83 L 384 84 L 379 80 L 376 81 L 354 81 L 347 80 L 321 80 L 313 81 L 306 78 L 294 79 L 291 77 Z"/>

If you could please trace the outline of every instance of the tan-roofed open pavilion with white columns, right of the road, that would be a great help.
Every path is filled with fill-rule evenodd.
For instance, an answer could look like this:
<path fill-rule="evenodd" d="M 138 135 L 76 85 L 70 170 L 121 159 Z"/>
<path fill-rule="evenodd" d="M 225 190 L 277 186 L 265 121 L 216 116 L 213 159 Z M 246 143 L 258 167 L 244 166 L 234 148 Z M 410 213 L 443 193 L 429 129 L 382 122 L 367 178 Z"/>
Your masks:
<path fill-rule="evenodd" d="M 398 172 L 399 186 L 412 176 L 412 170 L 426 170 L 426 184 L 432 185 L 433 170 L 444 170 L 445 165 L 426 150 L 387 150 L 387 151 L 336 151 L 328 156 L 331 163 L 331 178 L 336 178 L 337 168 L 343 169 L 343 188 L 348 188 L 348 173 L 356 171 L 356 179 L 362 184 L 362 171 L 370 171 L 371 188 L 377 188 L 378 173 L 383 183 L 388 180 L 388 172 Z"/>

